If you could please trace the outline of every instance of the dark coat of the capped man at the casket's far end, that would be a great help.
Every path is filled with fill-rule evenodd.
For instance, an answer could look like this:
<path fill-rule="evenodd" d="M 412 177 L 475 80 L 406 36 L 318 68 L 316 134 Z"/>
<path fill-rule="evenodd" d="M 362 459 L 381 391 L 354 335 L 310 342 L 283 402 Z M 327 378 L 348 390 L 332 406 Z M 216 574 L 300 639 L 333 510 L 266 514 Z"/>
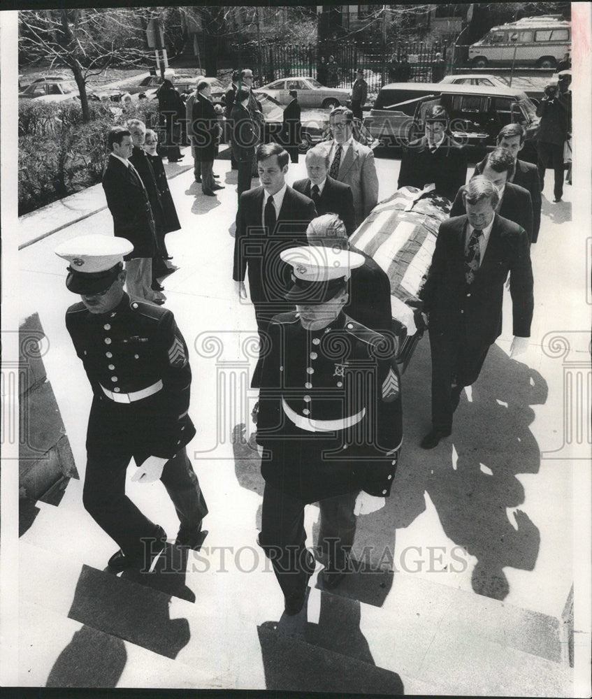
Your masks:
<path fill-rule="evenodd" d="M 467 180 L 467 161 L 463 147 L 445 136 L 435 153 L 426 136 L 413 140 L 403 149 L 397 187 L 423 189 L 435 183 L 436 194 L 452 201 Z"/>

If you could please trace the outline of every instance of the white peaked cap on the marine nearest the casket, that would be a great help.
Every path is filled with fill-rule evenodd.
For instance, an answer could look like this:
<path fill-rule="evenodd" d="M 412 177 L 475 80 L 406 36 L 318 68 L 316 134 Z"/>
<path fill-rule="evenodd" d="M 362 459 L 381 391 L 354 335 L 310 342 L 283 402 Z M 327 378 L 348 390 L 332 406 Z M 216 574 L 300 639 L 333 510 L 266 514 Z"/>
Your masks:
<path fill-rule="evenodd" d="M 364 264 L 359 252 L 322 245 L 290 247 L 282 250 L 280 257 L 293 268 L 294 286 L 287 292 L 287 300 L 309 305 L 329 301 L 349 279 L 352 269 Z"/>

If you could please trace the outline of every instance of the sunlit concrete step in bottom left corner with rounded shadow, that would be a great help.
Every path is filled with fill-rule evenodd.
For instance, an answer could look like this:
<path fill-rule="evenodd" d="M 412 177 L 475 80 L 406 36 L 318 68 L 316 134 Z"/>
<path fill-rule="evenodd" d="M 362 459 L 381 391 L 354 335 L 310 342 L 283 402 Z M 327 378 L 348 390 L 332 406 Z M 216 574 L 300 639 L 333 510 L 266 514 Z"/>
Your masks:
<path fill-rule="evenodd" d="M 21 600 L 19 686 L 207 688 L 210 678 L 129 641 Z"/>

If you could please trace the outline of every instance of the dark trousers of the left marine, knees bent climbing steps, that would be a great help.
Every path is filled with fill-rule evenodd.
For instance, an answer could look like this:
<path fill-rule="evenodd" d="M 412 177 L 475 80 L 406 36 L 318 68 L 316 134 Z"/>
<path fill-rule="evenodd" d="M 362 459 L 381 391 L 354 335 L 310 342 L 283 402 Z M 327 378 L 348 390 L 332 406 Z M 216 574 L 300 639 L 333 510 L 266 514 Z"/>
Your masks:
<path fill-rule="evenodd" d="M 125 494 L 125 475 L 132 456 L 140 466 L 149 455 L 103 456 L 88 452 L 82 502 L 126 556 L 145 561 L 142 540 L 154 536 L 155 525 Z M 160 480 L 175 505 L 181 526 L 196 530 L 208 514 L 208 506 L 185 447 L 166 462 Z"/>

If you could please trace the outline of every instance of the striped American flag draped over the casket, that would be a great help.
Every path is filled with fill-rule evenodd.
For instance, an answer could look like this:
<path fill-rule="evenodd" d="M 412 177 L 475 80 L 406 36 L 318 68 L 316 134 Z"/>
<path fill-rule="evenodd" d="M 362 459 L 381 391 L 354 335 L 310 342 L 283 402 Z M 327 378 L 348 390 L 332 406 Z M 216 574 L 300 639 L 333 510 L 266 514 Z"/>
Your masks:
<path fill-rule="evenodd" d="M 424 285 L 438 229 L 448 218 L 452 204 L 433 191 L 401 187 L 389 199 L 373 208 L 349 242 L 382 267 L 391 282 L 393 315 L 406 324 L 407 310 L 418 308 L 419 291 Z M 401 314 L 396 310 L 401 308 Z"/>

